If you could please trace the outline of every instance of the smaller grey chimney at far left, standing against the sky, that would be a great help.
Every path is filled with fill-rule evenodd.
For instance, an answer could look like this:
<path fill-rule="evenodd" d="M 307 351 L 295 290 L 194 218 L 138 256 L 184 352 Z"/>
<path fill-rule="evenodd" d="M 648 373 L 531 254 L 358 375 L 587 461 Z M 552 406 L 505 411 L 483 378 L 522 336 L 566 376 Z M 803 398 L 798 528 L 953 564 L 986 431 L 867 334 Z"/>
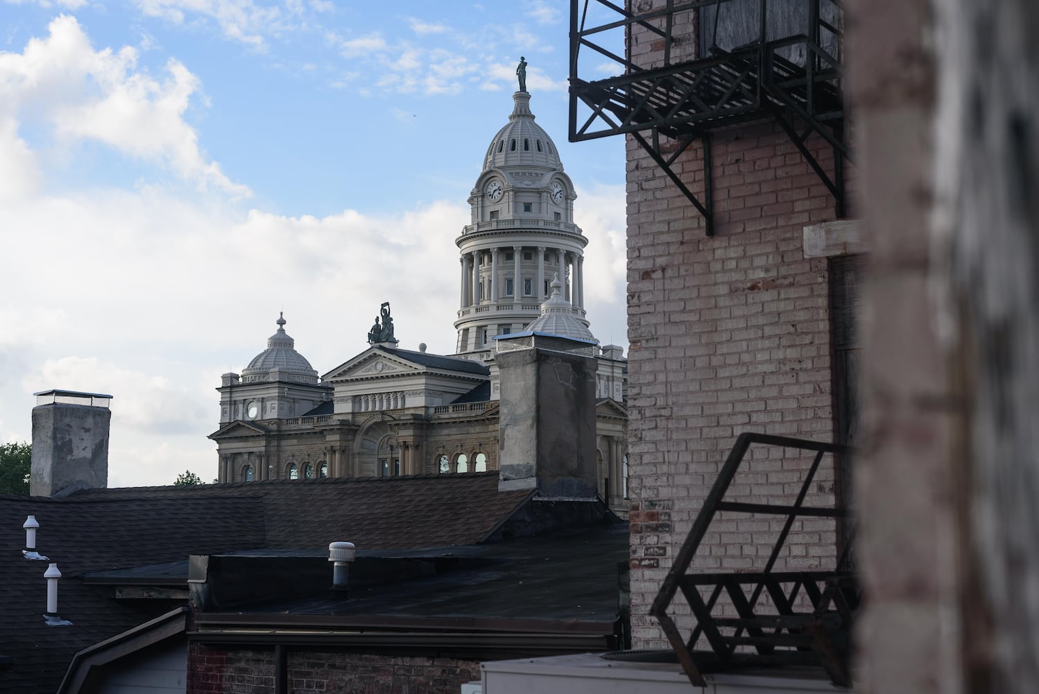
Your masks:
<path fill-rule="evenodd" d="M 29 493 L 64 497 L 108 486 L 112 396 L 57 390 L 33 395 Z"/>

